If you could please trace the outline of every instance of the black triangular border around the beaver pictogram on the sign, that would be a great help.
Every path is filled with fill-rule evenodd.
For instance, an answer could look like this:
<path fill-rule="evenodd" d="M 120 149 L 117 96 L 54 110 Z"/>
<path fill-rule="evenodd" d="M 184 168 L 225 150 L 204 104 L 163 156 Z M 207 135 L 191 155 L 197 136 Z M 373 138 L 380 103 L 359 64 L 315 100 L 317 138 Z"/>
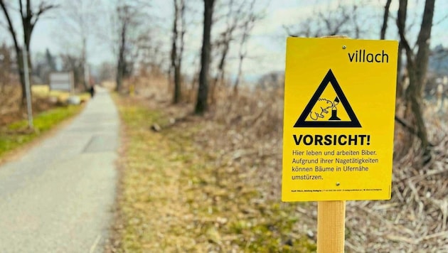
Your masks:
<path fill-rule="evenodd" d="M 319 97 L 321 97 L 322 93 L 324 92 L 326 86 L 329 85 L 329 83 L 331 83 L 331 86 L 333 86 L 334 91 L 336 92 L 337 95 L 336 99 L 338 99 L 341 102 L 343 108 L 346 109 L 350 121 L 331 120 L 331 119 L 329 121 L 306 121 L 305 120 L 306 117 L 308 117 L 308 115 L 311 113 L 311 109 L 313 109 L 317 100 L 319 99 Z M 331 69 L 329 70 L 329 72 L 326 73 L 324 80 L 322 80 L 321 84 L 317 88 L 316 92 L 314 92 L 314 95 L 313 97 L 311 97 L 308 104 L 306 104 L 304 111 L 300 115 L 299 119 L 297 119 L 297 122 L 296 124 L 294 124 L 294 127 L 361 127 L 358 118 L 353 112 L 353 109 L 351 109 L 351 106 L 347 101 L 346 95 L 343 94 L 341 87 L 339 86 L 338 81 L 336 80 L 336 77 L 334 77 L 333 72 L 331 72 Z"/>

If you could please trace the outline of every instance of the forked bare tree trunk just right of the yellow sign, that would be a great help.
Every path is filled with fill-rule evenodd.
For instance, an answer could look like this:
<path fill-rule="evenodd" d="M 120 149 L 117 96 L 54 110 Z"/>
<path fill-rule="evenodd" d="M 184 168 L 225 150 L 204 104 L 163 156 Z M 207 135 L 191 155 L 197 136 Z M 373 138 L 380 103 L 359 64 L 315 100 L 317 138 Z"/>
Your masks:
<path fill-rule="evenodd" d="M 405 102 L 407 106 L 406 117 L 409 117 L 415 123 L 415 133 L 420 139 L 420 145 L 424 162 L 431 160 L 430 142 L 427 137 L 427 129 L 422 115 L 422 91 L 425 87 L 428 60 L 430 57 L 430 38 L 432 30 L 432 19 L 434 16 L 435 0 L 426 0 L 423 11 L 420 32 L 417 38 L 417 53 L 414 53 L 410 43 L 406 38 L 406 16 L 407 0 L 400 0 L 398 7 L 398 33 L 400 34 L 400 43 L 406 53 L 406 68 L 409 78 L 409 85 L 405 91 Z"/>

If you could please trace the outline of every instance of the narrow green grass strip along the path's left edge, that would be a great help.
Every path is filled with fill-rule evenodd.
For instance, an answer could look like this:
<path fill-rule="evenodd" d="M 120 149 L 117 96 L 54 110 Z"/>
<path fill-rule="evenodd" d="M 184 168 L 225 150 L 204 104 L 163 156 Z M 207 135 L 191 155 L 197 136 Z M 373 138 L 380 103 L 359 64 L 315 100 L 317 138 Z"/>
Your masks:
<path fill-rule="evenodd" d="M 78 114 L 81 109 L 82 106 L 70 105 L 41 112 L 33 117 L 33 130 L 28 129 L 28 120 L 14 122 L 0 129 L 0 158 L 7 152 L 28 144 L 64 119 Z"/>

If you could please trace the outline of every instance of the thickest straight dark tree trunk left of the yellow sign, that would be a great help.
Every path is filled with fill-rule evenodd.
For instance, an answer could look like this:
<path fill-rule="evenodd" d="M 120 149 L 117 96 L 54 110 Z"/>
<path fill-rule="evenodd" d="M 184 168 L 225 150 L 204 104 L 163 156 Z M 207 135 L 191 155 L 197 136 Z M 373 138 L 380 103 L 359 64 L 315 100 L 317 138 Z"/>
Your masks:
<path fill-rule="evenodd" d="M 199 73 L 198 98 L 195 113 L 204 114 L 208 109 L 208 69 L 210 68 L 210 33 L 213 4 L 215 0 L 204 0 L 203 42 L 201 50 L 201 72 Z"/>

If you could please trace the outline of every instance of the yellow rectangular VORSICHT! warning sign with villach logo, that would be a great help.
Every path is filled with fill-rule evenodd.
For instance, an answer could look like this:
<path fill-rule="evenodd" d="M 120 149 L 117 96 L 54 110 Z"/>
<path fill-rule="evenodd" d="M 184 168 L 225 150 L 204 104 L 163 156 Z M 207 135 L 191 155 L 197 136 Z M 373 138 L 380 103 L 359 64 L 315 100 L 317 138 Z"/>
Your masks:
<path fill-rule="evenodd" d="M 283 201 L 385 200 L 397 41 L 288 38 Z"/>

